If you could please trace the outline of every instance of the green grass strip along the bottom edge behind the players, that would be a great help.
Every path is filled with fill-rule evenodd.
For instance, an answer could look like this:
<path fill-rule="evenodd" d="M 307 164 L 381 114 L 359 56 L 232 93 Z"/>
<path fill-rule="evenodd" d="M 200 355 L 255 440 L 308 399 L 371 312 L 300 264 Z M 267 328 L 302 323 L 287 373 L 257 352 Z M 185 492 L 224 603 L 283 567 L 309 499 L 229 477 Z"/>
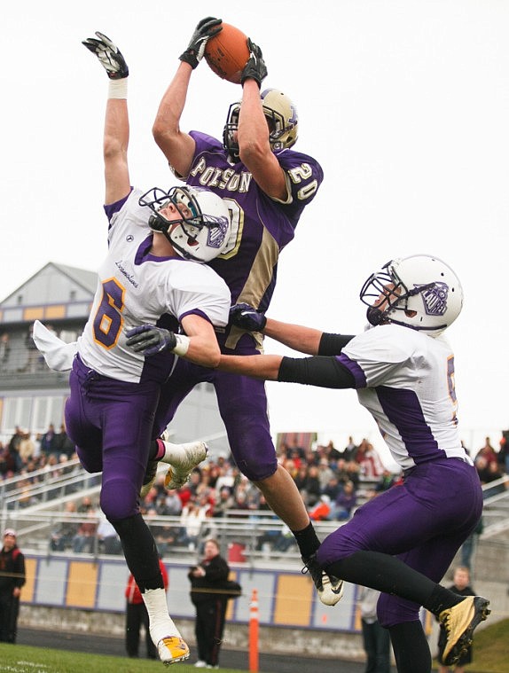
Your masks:
<path fill-rule="evenodd" d="M 468 666 L 468 673 L 509 673 L 508 641 L 509 619 L 478 631 L 474 639 L 474 663 Z M 155 673 L 157 670 L 191 673 L 194 667 L 177 663 L 166 669 L 160 661 L 0 644 L 2 673 Z M 242 673 L 237 669 L 221 668 L 221 671 Z"/>

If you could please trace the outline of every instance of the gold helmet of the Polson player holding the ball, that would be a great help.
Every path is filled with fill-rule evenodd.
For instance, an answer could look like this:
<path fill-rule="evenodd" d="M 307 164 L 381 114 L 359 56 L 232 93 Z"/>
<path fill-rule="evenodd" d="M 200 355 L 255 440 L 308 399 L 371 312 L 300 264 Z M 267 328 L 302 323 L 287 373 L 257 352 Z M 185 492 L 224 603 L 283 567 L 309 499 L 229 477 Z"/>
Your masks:
<path fill-rule="evenodd" d="M 292 147 L 297 141 L 299 117 L 286 93 L 277 89 L 265 89 L 260 94 L 263 113 L 269 124 L 269 142 L 272 151 Z M 233 103 L 223 129 L 224 149 L 232 158 L 239 158 L 239 143 L 233 133 L 239 128 L 240 103 Z"/>

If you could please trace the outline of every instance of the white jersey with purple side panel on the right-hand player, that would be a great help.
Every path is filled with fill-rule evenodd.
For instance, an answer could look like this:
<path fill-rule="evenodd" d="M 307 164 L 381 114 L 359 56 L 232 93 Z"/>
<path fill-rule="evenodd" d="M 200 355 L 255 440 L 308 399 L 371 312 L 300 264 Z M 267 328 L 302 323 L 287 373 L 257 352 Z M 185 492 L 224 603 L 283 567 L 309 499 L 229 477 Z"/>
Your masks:
<path fill-rule="evenodd" d="M 349 341 L 338 360 L 403 470 L 444 457 L 471 463 L 458 432 L 454 355 L 443 336 L 379 325 Z"/>

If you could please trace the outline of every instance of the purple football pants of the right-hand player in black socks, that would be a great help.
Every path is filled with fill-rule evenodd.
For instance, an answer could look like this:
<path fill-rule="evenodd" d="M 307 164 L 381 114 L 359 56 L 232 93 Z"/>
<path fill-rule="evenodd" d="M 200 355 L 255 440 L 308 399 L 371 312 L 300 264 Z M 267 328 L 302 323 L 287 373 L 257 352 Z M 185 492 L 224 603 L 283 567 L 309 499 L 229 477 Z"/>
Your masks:
<path fill-rule="evenodd" d="M 442 458 L 414 467 L 401 486 L 373 497 L 321 544 L 321 567 L 359 550 L 397 556 L 439 583 L 482 513 L 482 488 L 473 466 Z M 348 577 L 343 579 L 348 580 Z M 386 628 L 419 619 L 419 605 L 382 593 L 378 618 Z"/>

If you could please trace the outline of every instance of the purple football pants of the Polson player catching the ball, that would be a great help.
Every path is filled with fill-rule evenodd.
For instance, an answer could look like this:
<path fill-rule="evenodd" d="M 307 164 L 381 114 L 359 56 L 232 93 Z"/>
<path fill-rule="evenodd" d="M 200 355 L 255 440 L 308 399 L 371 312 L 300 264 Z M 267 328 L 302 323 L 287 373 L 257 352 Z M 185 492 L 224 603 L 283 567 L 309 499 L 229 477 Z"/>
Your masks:
<path fill-rule="evenodd" d="M 255 349 L 250 349 L 249 352 L 235 351 L 236 355 L 257 353 Z M 265 384 L 261 380 L 217 372 L 181 359 L 177 362 L 171 378 L 162 387 L 154 422 L 155 431 L 161 434 L 175 416 L 184 397 L 203 381 L 215 387 L 231 453 L 240 472 L 250 481 L 261 481 L 270 477 L 278 468 L 278 460 L 270 437 Z"/>

